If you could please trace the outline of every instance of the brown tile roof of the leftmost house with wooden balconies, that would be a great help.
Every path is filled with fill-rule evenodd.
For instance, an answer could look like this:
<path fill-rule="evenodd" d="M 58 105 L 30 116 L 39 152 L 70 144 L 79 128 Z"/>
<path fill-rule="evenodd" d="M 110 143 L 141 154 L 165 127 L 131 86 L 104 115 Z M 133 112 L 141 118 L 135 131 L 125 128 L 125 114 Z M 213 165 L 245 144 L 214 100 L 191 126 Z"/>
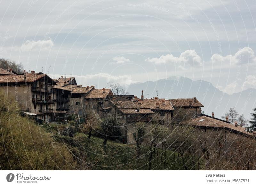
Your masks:
<path fill-rule="evenodd" d="M 46 74 L 26 74 L 26 82 L 34 82 L 44 76 L 47 76 L 47 75 Z M 49 76 L 47 76 L 47 77 L 49 77 Z M 2 75 L 2 76 L 0 76 L 0 83 L 6 83 L 6 82 L 25 82 L 24 75 Z"/>

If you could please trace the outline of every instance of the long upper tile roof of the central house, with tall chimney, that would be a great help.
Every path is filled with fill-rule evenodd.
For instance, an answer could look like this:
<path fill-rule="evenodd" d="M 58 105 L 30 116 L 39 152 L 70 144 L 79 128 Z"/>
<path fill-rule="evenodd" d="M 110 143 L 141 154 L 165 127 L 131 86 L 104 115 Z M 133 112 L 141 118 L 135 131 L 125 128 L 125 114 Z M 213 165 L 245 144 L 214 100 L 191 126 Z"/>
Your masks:
<path fill-rule="evenodd" d="M 165 99 L 144 99 L 144 100 L 132 100 L 121 101 L 118 108 L 144 108 L 150 110 L 174 110 L 171 102 Z"/>

